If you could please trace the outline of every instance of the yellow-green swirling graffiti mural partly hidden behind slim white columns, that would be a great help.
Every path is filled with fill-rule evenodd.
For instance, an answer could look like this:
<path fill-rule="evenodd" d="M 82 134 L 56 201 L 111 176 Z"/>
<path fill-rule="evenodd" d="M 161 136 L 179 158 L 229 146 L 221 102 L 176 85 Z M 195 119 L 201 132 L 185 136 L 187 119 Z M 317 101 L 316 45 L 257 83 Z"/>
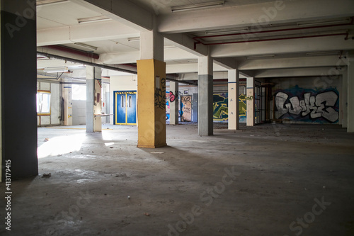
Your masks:
<path fill-rule="evenodd" d="M 215 122 L 227 122 L 229 120 L 229 99 L 227 93 L 215 93 L 213 96 L 213 118 Z M 239 122 L 246 123 L 246 95 L 239 95 Z"/>

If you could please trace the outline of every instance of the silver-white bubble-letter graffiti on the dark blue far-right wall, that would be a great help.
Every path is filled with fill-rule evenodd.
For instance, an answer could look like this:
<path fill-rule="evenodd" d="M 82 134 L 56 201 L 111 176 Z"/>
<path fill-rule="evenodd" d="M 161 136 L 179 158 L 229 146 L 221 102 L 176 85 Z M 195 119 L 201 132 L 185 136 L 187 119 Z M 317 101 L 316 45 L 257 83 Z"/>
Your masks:
<path fill-rule="evenodd" d="M 296 86 L 275 93 L 275 118 L 316 123 L 336 123 L 339 118 L 337 89 L 314 91 Z M 300 100 L 301 99 L 301 100 Z"/>

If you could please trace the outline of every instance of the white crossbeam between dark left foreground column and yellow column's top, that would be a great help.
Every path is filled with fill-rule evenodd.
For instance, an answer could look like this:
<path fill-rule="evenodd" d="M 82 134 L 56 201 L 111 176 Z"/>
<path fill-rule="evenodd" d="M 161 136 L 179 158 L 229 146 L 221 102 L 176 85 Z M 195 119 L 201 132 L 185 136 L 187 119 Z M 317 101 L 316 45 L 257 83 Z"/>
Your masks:
<path fill-rule="evenodd" d="M 94 32 L 94 33 L 93 33 Z M 139 37 L 140 32 L 117 21 L 37 30 L 37 46 L 85 43 Z"/>

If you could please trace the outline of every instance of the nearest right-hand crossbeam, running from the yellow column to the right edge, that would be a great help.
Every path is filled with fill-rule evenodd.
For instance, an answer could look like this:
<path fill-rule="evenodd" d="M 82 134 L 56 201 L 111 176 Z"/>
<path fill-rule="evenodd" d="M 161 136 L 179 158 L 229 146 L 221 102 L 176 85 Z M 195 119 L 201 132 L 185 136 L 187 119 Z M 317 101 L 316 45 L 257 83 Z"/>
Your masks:
<path fill-rule="evenodd" d="M 158 29 L 161 33 L 182 33 L 244 26 L 262 28 L 264 24 L 269 23 L 350 16 L 354 16 L 352 0 L 270 1 L 263 4 L 161 15 L 158 18 Z"/>

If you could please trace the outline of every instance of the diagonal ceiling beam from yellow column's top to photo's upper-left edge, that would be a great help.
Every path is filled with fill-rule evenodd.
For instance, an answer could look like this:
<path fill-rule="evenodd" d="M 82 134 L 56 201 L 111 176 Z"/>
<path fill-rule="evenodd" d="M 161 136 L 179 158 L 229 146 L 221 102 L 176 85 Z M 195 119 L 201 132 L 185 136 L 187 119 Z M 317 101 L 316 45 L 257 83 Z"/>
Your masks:
<path fill-rule="evenodd" d="M 135 28 L 136 30 L 152 30 L 154 15 L 127 0 L 75 0 L 75 4 L 108 16 L 115 21 Z"/>

